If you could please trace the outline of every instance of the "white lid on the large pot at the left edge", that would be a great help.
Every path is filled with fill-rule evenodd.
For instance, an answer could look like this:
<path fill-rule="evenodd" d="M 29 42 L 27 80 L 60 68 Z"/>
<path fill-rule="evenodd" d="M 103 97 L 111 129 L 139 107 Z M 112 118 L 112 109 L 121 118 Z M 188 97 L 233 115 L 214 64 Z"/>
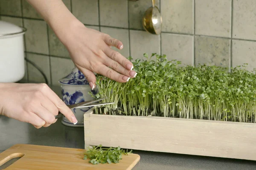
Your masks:
<path fill-rule="evenodd" d="M 15 24 L 0 20 L 0 35 L 15 34 L 22 31 L 23 29 L 19 26 L 16 26 Z"/>

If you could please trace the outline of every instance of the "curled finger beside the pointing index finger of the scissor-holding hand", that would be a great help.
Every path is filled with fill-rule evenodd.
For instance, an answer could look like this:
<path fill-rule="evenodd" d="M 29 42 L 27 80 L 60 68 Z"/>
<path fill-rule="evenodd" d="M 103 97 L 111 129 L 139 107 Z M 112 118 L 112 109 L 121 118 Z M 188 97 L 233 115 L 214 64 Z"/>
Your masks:
<path fill-rule="evenodd" d="M 51 125 L 52 123 L 55 122 L 55 117 L 53 116 L 52 113 L 50 113 L 46 108 L 44 108 L 42 105 L 38 106 L 36 108 L 36 111 L 34 111 L 34 113 L 40 117 L 41 119 L 43 119 L 46 123 L 44 124 L 44 127 L 48 127 L 49 125 Z"/>

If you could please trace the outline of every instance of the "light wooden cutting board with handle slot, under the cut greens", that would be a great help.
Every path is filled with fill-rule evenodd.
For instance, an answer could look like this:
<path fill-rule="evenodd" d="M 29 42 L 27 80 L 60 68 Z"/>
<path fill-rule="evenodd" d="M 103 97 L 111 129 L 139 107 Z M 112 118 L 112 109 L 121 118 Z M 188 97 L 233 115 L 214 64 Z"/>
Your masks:
<path fill-rule="evenodd" d="M 89 163 L 84 160 L 84 149 L 16 144 L 0 153 L 0 166 L 13 158 L 19 158 L 6 170 L 131 170 L 140 160 L 134 153 L 122 155 L 114 164 Z"/>

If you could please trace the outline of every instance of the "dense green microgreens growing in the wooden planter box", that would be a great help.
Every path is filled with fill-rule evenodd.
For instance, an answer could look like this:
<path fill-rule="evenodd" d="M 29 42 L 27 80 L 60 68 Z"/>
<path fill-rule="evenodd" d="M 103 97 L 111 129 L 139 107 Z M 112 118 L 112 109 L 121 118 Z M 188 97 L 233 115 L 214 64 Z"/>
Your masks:
<path fill-rule="evenodd" d="M 104 113 L 256 123 L 256 74 L 235 68 L 182 65 L 166 55 L 143 54 L 133 61 L 137 77 L 119 83 L 97 75 Z M 133 60 L 132 57 L 128 59 Z M 100 110 L 101 111 L 101 110 Z M 98 109 L 95 110 L 98 114 Z M 102 113 L 102 112 L 101 112 Z"/>

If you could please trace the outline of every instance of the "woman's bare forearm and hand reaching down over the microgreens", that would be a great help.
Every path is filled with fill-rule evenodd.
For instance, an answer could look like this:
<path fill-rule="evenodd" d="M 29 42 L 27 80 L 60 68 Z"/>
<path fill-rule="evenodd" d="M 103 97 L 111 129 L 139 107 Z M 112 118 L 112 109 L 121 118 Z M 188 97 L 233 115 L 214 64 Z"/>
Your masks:
<path fill-rule="evenodd" d="M 136 76 L 136 72 L 132 71 L 132 62 L 111 49 L 111 46 L 122 49 L 122 42 L 102 32 L 86 28 L 62 0 L 27 1 L 41 14 L 65 45 L 72 61 L 90 82 L 92 89 L 96 82 L 94 73 L 117 82 L 127 82 Z"/>

